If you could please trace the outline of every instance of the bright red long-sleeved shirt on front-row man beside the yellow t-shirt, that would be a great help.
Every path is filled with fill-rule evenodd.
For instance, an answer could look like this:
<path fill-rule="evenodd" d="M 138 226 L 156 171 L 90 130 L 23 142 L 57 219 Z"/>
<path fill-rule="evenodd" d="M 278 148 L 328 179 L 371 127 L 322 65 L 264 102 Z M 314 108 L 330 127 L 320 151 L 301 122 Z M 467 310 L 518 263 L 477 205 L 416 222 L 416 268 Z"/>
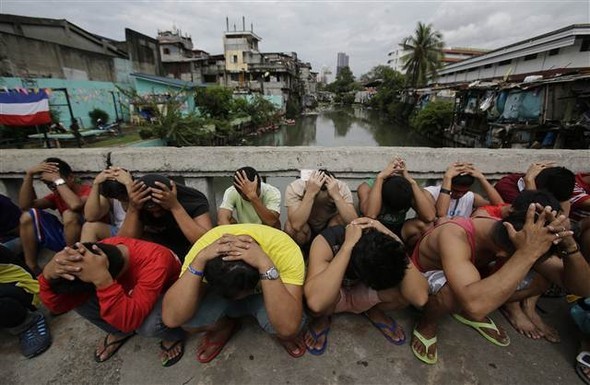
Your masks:
<path fill-rule="evenodd" d="M 132 238 L 113 237 L 101 241 L 123 245 L 129 250 L 127 270 L 112 285 L 96 290 L 100 316 L 122 332 L 136 330 L 152 311 L 160 295 L 180 274 L 180 260 L 164 246 Z M 62 313 L 83 304 L 89 293 L 57 294 L 43 275 L 39 276 L 40 297 L 45 306 Z"/>

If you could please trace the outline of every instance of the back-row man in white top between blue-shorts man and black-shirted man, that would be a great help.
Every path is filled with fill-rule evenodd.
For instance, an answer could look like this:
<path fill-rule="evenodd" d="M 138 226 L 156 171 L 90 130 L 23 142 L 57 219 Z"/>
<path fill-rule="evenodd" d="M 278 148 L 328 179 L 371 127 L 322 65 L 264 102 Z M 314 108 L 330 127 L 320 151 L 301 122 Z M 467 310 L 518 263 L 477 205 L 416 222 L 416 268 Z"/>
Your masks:
<path fill-rule="evenodd" d="M 108 167 L 94 178 L 84 206 L 86 222 L 82 227 L 82 242 L 96 242 L 119 232 L 129 205 L 132 183 L 129 171 L 120 167 Z"/>

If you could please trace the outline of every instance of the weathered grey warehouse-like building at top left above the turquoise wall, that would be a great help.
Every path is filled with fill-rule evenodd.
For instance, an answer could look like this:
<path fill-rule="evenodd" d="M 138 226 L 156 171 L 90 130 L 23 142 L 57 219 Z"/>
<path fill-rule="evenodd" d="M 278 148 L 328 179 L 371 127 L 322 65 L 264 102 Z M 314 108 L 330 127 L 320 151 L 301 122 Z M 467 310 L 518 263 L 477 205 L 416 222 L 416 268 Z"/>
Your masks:
<path fill-rule="evenodd" d="M 129 73 L 160 73 L 157 42 L 127 29 L 126 41 L 92 34 L 67 20 L 0 14 L 0 74 L 128 83 Z"/>

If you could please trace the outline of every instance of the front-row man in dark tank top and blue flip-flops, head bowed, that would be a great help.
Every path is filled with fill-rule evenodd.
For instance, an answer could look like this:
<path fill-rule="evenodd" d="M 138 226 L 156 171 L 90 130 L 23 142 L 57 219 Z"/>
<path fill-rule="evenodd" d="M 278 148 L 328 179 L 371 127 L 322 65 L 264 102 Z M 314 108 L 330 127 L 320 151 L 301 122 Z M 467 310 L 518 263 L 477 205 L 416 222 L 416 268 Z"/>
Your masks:
<path fill-rule="evenodd" d="M 401 326 L 384 311 L 428 300 L 426 279 L 409 261 L 399 237 L 371 218 L 357 218 L 346 227 L 328 227 L 311 245 L 305 282 L 308 308 L 316 317 L 305 334 L 308 351 L 324 353 L 330 316 L 363 314 L 385 336 L 401 345 Z"/>

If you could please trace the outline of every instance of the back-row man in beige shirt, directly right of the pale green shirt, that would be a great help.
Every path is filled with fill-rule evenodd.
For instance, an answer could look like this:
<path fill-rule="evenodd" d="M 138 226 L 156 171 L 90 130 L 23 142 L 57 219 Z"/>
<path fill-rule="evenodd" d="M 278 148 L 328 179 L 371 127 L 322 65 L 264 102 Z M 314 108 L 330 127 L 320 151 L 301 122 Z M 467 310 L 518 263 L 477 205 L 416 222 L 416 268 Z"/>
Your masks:
<path fill-rule="evenodd" d="M 315 170 L 309 180 L 297 179 L 285 191 L 285 232 L 306 246 L 324 228 L 346 225 L 358 215 L 346 183 L 325 169 Z"/>

